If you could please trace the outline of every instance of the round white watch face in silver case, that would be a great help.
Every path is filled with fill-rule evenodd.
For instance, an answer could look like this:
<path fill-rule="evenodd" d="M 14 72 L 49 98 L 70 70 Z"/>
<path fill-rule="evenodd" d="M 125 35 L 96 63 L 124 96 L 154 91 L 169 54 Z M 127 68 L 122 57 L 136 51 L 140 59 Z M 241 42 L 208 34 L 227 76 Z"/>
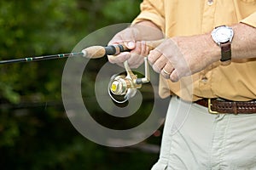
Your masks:
<path fill-rule="evenodd" d="M 220 26 L 212 31 L 212 38 L 217 43 L 229 42 L 232 37 L 233 31 L 228 26 Z"/>

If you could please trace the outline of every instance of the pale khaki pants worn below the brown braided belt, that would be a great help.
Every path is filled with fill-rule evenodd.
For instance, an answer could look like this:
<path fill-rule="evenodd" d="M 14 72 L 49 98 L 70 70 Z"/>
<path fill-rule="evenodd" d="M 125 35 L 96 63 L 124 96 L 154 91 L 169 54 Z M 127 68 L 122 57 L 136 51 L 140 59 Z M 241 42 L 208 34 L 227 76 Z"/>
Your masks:
<path fill-rule="evenodd" d="M 152 170 L 256 169 L 256 114 L 208 113 L 172 97 Z"/>

